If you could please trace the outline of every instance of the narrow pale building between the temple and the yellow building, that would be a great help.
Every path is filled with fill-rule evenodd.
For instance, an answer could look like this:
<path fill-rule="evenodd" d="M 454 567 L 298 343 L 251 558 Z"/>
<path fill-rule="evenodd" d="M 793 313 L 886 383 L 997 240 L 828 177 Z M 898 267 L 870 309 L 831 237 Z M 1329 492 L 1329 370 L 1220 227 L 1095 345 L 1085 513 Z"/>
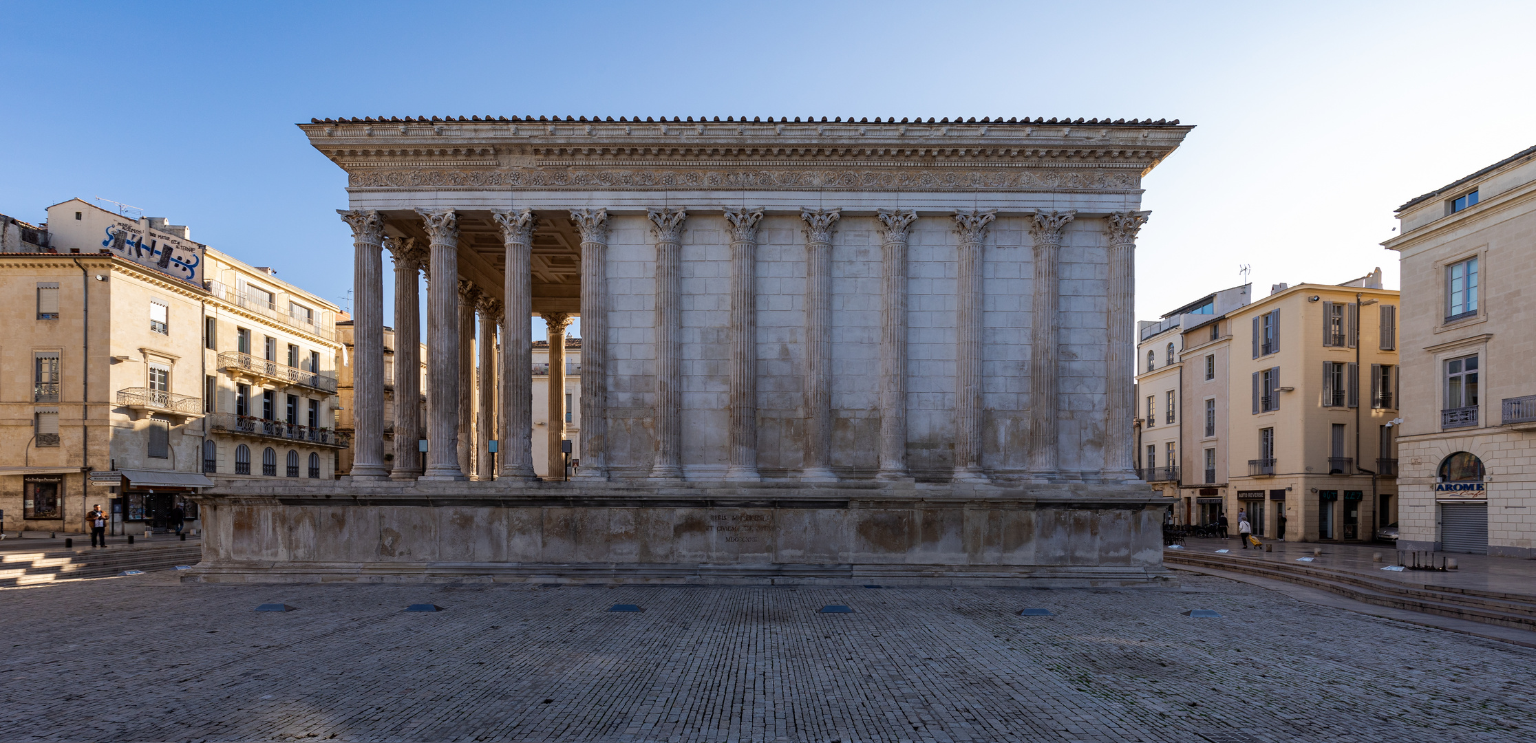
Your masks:
<path fill-rule="evenodd" d="M 1137 327 L 1137 436 L 1141 477 L 1177 499 L 1177 523 L 1213 523 L 1227 482 L 1227 313 L 1250 286 L 1195 299 Z M 1186 407 L 1186 401 L 1189 405 Z"/>

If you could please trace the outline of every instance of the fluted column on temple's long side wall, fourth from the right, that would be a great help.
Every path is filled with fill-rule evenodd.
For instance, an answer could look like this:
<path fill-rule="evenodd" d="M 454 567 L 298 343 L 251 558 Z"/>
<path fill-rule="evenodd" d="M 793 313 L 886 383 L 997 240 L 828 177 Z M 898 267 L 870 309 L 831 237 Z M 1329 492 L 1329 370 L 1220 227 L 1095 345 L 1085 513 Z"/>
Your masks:
<path fill-rule="evenodd" d="M 915 210 L 880 210 L 880 480 L 906 473 L 906 239 Z"/>

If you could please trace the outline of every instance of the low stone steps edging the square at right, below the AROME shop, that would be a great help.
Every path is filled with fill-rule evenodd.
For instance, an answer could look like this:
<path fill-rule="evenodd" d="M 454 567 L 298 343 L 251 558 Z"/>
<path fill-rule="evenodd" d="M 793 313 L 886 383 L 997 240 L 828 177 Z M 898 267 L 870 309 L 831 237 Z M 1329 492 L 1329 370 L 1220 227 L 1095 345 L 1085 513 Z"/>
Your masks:
<path fill-rule="evenodd" d="M 1261 557 L 1164 551 L 1163 562 L 1286 580 L 1376 606 L 1536 631 L 1536 596 L 1376 579 L 1356 571 Z"/>

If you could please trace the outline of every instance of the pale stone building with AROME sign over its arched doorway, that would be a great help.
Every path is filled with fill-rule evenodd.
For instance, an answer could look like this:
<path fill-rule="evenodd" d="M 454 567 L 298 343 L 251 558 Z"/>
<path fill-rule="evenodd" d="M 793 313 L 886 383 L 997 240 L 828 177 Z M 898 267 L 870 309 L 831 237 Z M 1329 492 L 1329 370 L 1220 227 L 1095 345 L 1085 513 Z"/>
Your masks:
<path fill-rule="evenodd" d="M 1536 147 L 1396 210 L 1398 545 L 1536 557 Z"/>

